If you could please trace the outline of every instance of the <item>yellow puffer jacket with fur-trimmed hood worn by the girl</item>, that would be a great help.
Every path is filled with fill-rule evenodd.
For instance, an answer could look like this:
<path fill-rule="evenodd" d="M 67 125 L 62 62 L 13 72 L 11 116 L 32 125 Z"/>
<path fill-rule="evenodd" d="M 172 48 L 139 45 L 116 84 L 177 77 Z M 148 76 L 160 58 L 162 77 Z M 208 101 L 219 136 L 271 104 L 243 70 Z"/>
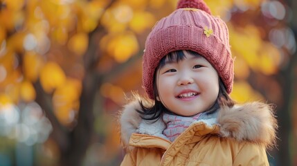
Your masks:
<path fill-rule="evenodd" d="M 139 99 L 138 99 L 139 100 Z M 275 142 L 276 119 L 269 105 L 253 102 L 204 117 L 170 142 L 165 124 L 139 117 L 137 100 L 120 117 L 127 153 L 122 165 L 269 165 L 266 149 Z"/>

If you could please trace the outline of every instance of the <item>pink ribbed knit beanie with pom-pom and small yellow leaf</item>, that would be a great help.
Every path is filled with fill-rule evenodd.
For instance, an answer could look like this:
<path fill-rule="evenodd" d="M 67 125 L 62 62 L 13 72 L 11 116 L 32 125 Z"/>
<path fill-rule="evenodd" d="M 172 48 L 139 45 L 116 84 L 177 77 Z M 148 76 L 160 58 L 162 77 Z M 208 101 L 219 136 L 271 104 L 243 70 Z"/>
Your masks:
<path fill-rule="evenodd" d="M 145 42 L 143 87 L 153 99 L 153 77 L 160 60 L 176 50 L 192 50 L 205 57 L 221 77 L 226 91 L 233 86 L 233 59 L 228 28 L 202 0 L 180 0 L 177 10 L 156 23 Z"/>

